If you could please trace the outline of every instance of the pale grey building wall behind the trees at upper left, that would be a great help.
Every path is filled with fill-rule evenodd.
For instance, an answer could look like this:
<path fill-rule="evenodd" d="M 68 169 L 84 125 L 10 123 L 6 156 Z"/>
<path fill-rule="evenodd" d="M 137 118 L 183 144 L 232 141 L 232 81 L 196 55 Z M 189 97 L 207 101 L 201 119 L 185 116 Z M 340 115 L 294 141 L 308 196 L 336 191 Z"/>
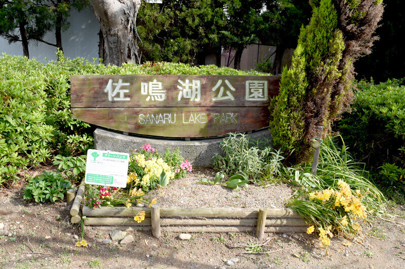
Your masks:
<path fill-rule="evenodd" d="M 71 16 L 68 18 L 70 27 L 62 33 L 62 46 L 65 57 L 76 58 L 83 57 L 93 61 L 93 58 L 98 59 L 98 42 L 100 25 L 93 8 L 90 6 L 88 10 L 77 12 L 72 10 Z M 55 33 L 48 32 L 44 40 L 50 43 L 56 43 Z M 8 55 L 23 55 L 21 42 L 11 43 L 0 37 L 0 54 L 6 52 Z M 42 42 L 30 43 L 29 58 L 35 58 L 38 61 L 44 62 L 47 60 L 56 60 L 56 47 L 47 45 Z M 0 55 L 1 56 L 1 55 Z"/>

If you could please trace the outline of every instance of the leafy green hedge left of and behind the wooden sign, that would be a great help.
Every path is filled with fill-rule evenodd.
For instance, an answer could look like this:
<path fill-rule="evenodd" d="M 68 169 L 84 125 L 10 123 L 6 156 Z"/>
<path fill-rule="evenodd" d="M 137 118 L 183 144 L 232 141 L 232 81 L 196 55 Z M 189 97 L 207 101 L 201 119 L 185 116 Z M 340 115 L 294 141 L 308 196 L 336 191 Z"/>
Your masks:
<path fill-rule="evenodd" d="M 70 116 L 70 75 L 262 75 L 212 65 L 106 67 L 80 58 L 65 59 L 59 52 L 58 59 L 44 65 L 23 57 L 0 57 L 0 184 L 56 154 L 78 155 L 92 146 L 90 125 Z"/>

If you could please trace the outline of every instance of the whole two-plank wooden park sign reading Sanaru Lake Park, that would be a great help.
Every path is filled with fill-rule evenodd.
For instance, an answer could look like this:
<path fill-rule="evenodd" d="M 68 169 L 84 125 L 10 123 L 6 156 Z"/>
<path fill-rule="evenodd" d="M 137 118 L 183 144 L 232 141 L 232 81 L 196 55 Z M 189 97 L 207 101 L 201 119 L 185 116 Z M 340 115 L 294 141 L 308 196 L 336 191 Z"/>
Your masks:
<path fill-rule="evenodd" d="M 279 76 L 74 75 L 75 119 L 118 131 L 210 137 L 268 126 Z"/>

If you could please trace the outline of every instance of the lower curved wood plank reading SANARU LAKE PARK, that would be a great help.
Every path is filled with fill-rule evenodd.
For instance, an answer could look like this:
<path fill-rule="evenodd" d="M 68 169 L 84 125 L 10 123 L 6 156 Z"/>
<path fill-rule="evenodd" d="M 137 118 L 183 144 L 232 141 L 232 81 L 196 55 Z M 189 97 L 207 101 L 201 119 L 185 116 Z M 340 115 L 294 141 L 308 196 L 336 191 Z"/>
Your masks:
<path fill-rule="evenodd" d="M 267 107 L 131 107 L 71 109 L 72 117 L 118 131 L 165 137 L 209 137 L 268 126 Z"/>

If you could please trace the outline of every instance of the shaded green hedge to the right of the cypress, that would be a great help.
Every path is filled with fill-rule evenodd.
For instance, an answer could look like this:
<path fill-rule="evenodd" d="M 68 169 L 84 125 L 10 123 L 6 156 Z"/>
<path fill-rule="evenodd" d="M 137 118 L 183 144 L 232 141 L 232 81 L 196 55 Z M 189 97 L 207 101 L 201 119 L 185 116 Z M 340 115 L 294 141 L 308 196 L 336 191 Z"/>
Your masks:
<path fill-rule="evenodd" d="M 354 157 L 383 185 L 405 186 L 405 85 L 403 80 L 357 83 L 353 112 L 335 130 Z M 395 183 L 395 184 L 394 184 Z"/>

